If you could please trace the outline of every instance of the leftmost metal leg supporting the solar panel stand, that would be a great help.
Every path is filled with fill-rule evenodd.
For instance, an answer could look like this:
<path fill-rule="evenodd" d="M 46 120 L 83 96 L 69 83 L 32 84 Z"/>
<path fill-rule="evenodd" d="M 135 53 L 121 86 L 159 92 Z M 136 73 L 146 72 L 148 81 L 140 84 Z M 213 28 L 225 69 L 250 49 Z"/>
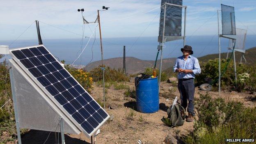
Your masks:
<path fill-rule="evenodd" d="M 18 144 L 21 144 L 20 123 L 19 123 L 19 119 L 18 119 L 18 110 L 17 110 L 17 105 L 16 105 L 16 93 L 15 93 L 12 69 L 9 70 L 9 73 L 10 73 L 10 80 L 11 80 L 12 100 L 13 100 L 13 103 L 14 103 L 14 115 L 15 115 L 15 121 L 16 121 L 16 130 L 17 130 L 17 136 L 18 136 Z"/>

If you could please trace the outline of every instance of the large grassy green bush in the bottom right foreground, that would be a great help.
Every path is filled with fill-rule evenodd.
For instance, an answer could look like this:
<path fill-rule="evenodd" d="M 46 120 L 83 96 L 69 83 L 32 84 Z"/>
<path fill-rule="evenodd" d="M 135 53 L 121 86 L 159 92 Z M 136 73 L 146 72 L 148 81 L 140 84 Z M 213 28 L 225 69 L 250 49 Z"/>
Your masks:
<path fill-rule="evenodd" d="M 200 95 L 195 103 L 198 120 L 194 130 L 183 137 L 186 144 L 224 144 L 225 139 L 256 138 L 256 107 Z"/>

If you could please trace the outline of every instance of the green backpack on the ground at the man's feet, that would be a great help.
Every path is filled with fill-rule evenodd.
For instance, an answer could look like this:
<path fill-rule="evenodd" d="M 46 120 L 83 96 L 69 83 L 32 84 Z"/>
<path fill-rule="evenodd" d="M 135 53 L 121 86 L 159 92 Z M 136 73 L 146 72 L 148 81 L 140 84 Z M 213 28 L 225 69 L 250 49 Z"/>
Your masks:
<path fill-rule="evenodd" d="M 180 108 L 183 110 L 182 113 L 180 111 Z M 173 109 L 168 108 L 167 109 L 168 117 L 163 117 L 161 120 L 164 122 L 167 126 L 173 128 L 176 126 L 182 126 L 185 122 L 185 109 L 181 105 L 174 105 Z"/>

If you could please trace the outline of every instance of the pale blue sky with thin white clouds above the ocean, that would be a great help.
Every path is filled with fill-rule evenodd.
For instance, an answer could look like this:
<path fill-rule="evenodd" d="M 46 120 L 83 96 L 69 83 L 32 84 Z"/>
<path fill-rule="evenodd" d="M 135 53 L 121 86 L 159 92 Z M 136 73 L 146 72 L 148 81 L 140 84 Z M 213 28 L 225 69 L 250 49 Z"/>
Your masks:
<path fill-rule="evenodd" d="M 39 21 L 43 39 L 80 39 L 83 22 L 77 9 L 84 8 L 83 16 L 93 22 L 102 6 L 110 7 L 100 11 L 103 38 L 158 36 L 160 0 L 0 0 L 0 3 L 0 41 L 37 39 L 35 20 Z M 217 34 L 217 10 L 221 3 L 235 7 L 236 27 L 248 27 L 248 34 L 256 34 L 256 0 L 183 0 L 187 6 L 187 36 Z M 90 37 L 91 31 L 96 30 L 98 37 L 96 26 L 96 23 L 85 25 L 84 36 Z"/>

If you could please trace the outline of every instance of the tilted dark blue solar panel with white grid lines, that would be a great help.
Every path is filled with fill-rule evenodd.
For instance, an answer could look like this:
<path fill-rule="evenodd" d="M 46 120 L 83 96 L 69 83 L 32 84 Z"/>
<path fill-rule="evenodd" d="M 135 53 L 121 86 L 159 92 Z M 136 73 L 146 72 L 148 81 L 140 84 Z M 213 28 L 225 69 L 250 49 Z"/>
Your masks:
<path fill-rule="evenodd" d="M 43 45 L 14 49 L 11 53 L 87 135 L 91 136 L 110 117 Z"/>

